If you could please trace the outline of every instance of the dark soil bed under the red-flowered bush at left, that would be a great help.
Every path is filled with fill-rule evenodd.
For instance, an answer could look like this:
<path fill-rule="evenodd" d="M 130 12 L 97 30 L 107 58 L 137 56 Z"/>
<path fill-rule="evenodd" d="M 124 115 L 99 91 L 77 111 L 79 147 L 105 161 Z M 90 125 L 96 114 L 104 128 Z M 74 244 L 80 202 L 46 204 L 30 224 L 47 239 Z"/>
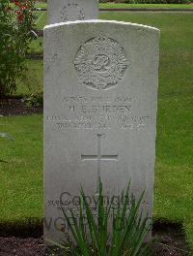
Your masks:
<path fill-rule="evenodd" d="M 0 116 L 42 112 L 42 107 L 27 107 L 22 99 L 0 99 Z"/>

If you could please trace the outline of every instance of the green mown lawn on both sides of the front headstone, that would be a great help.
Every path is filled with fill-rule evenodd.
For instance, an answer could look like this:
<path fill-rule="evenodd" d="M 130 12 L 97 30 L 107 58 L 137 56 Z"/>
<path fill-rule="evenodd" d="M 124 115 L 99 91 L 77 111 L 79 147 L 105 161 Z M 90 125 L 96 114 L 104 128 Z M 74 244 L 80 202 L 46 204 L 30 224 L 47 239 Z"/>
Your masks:
<path fill-rule="evenodd" d="M 153 216 L 182 222 L 193 255 L 193 14 L 106 13 L 100 17 L 161 30 Z M 28 65 L 32 84 L 41 84 L 42 62 L 28 60 Z M 23 83 L 17 94 L 26 90 Z M 29 217 L 40 220 L 42 116 L 0 117 L 0 131 L 15 138 L 14 143 L 0 139 L 0 160 L 5 161 L 0 162 L 0 223 L 23 223 Z"/>

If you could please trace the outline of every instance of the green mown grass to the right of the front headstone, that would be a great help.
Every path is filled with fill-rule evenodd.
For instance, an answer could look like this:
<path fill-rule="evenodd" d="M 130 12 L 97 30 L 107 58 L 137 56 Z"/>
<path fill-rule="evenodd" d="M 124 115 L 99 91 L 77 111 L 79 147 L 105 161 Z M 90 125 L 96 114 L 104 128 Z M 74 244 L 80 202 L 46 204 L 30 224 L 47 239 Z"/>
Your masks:
<path fill-rule="evenodd" d="M 161 30 L 153 216 L 183 222 L 193 255 L 193 15 L 101 17 Z"/>

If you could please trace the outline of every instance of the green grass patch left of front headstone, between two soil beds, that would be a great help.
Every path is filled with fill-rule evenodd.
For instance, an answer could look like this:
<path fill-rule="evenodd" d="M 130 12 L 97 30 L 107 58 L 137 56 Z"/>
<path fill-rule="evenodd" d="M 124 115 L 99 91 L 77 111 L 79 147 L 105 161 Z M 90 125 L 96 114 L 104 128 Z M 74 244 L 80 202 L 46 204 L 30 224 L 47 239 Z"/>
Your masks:
<path fill-rule="evenodd" d="M 42 116 L 0 117 L 0 223 L 42 218 Z"/>

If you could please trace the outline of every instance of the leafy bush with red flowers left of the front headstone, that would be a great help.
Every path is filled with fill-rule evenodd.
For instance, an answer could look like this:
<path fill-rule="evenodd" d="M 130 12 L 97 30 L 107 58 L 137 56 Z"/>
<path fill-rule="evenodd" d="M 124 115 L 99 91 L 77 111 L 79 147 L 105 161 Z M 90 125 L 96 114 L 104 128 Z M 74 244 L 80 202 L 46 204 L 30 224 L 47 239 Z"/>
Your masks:
<path fill-rule="evenodd" d="M 33 0 L 0 2 L 0 97 L 13 94 L 16 80 L 25 71 L 24 60 L 29 43 L 35 37 Z"/>

